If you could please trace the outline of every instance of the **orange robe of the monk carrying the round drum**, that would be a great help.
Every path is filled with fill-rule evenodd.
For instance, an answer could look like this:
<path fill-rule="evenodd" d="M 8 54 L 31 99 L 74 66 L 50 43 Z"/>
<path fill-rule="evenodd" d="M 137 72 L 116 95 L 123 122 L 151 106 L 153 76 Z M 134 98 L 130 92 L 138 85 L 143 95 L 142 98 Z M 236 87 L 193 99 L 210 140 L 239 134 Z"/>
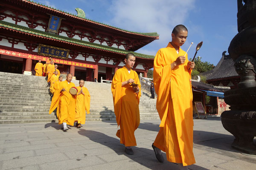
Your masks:
<path fill-rule="evenodd" d="M 67 80 L 60 82 L 59 89 L 54 92 L 52 97 L 51 107 L 49 109 L 49 114 L 51 114 L 56 107 L 58 123 L 61 125 L 63 122 L 67 122 L 67 125 L 73 126 L 76 113 L 76 95 L 70 94 L 69 90 L 72 87 L 76 87 L 73 82 L 68 84 Z M 66 91 L 62 91 L 61 89 Z"/>

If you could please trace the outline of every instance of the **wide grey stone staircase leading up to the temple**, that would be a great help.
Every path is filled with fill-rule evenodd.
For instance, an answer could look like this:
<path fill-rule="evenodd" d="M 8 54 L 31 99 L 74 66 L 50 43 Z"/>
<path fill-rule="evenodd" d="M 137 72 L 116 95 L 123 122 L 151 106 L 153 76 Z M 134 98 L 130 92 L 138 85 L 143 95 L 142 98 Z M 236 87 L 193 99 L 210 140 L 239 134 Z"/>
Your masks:
<path fill-rule="evenodd" d="M 56 113 L 49 115 L 51 96 L 45 77 L 0 72 L 0 124 L 58 122 Z M 76 86 L 78 80 L 73 80 Z M 85 82 L 91 96 L 86 121 L 116 120 L 111 84 Z M 159 119 L 156 99 L 142 90 L 140 119 Z"/>

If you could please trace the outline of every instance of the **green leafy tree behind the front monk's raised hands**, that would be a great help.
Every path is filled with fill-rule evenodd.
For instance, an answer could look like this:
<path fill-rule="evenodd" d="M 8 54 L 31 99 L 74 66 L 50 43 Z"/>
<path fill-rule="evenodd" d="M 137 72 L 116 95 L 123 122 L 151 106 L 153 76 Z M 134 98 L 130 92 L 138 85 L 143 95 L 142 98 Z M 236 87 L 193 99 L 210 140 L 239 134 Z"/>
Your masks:
<path fill-rule="evenodd" d="M 192 59 L 190 58 L 189 61 L 191 61 Z M 209 62 L 202 62 L 201 61 L 201 57 L 197 57 L 194 60 L 195 62 L 195 68 L 193 69 L 192 73 L 191 73 L 191 77 L 195 77 L 198 76 L 200 73 L 204 73 L 206 71 L 210 71 L 212 70 L 212 68 L 214 68 L 214 65 L 209 63 Z M 204 80 L 205 79 L 205 80 Z M 201 81 L 206 81 L 205 77 L 201 77 Z"/>

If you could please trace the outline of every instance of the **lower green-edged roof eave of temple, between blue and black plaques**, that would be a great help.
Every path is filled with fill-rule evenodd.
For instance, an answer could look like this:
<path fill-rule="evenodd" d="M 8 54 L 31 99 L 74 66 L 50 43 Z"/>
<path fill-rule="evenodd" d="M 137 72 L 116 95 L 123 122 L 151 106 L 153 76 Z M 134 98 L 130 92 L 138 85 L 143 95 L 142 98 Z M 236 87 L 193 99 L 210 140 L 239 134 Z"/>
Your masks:
<path fill-rule="evenodd" d="M 117 53 L 117 54 L 126 55 L 128 52 L 131 52 L 136 57 L 141 58 L 141 59 L 154 59 L 154 56 L 151 56 L 151 55 L 135 53 L 133 51 L 127 51 L 127 50 L 123 50 L 123 49 L 119 49 L 119 48 L 109 47 L 106 45 L 100 45 L 100 44 L 76 40 L 73 38 L 68 38 L 68 37 L 64 37 L 64 36 L 60 36 L 60 35 L 50 34 L 50 33 L 44 32 L 44 31 L 39 31 L 36 29 L 19 26 L 16 24 L 5 22 L 5 21 L 0 21 L 0 29 L 8 29 L 10 31 L 20 32 L 21 34 L 29 34 L 29 35 L 32 35 L 35 37 L 44 37 L 44 38 L 51 39 L 51 40 L 61 41 L 61 42 L 65 42 L 65 43 L 71 43 L 73 45 L 79 45 L 81 47 L 94 48 L 97 50 L 109 51 L 109 52 Z"/>

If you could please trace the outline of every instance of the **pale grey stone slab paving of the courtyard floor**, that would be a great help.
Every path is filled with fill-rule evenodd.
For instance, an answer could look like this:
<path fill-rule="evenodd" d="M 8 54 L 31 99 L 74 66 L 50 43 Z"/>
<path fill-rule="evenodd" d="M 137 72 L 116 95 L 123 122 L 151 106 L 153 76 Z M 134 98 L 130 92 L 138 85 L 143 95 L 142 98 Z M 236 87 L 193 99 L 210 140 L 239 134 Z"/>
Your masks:
<path fill-rule="evenodd" d="M 132 156 L 115 136 L 115 121 L 86 122 L 67 132 L 55 122 L 0 125 L 0 170 L 177 170 L 174 163 L 158 162 L 151 148 L 159 123 L 141 121 Z M 233 139 L 220 117 L 194 119 L 196 164 L 189 169 L 256 170 L 256 156 L 233 149 Z"/>

